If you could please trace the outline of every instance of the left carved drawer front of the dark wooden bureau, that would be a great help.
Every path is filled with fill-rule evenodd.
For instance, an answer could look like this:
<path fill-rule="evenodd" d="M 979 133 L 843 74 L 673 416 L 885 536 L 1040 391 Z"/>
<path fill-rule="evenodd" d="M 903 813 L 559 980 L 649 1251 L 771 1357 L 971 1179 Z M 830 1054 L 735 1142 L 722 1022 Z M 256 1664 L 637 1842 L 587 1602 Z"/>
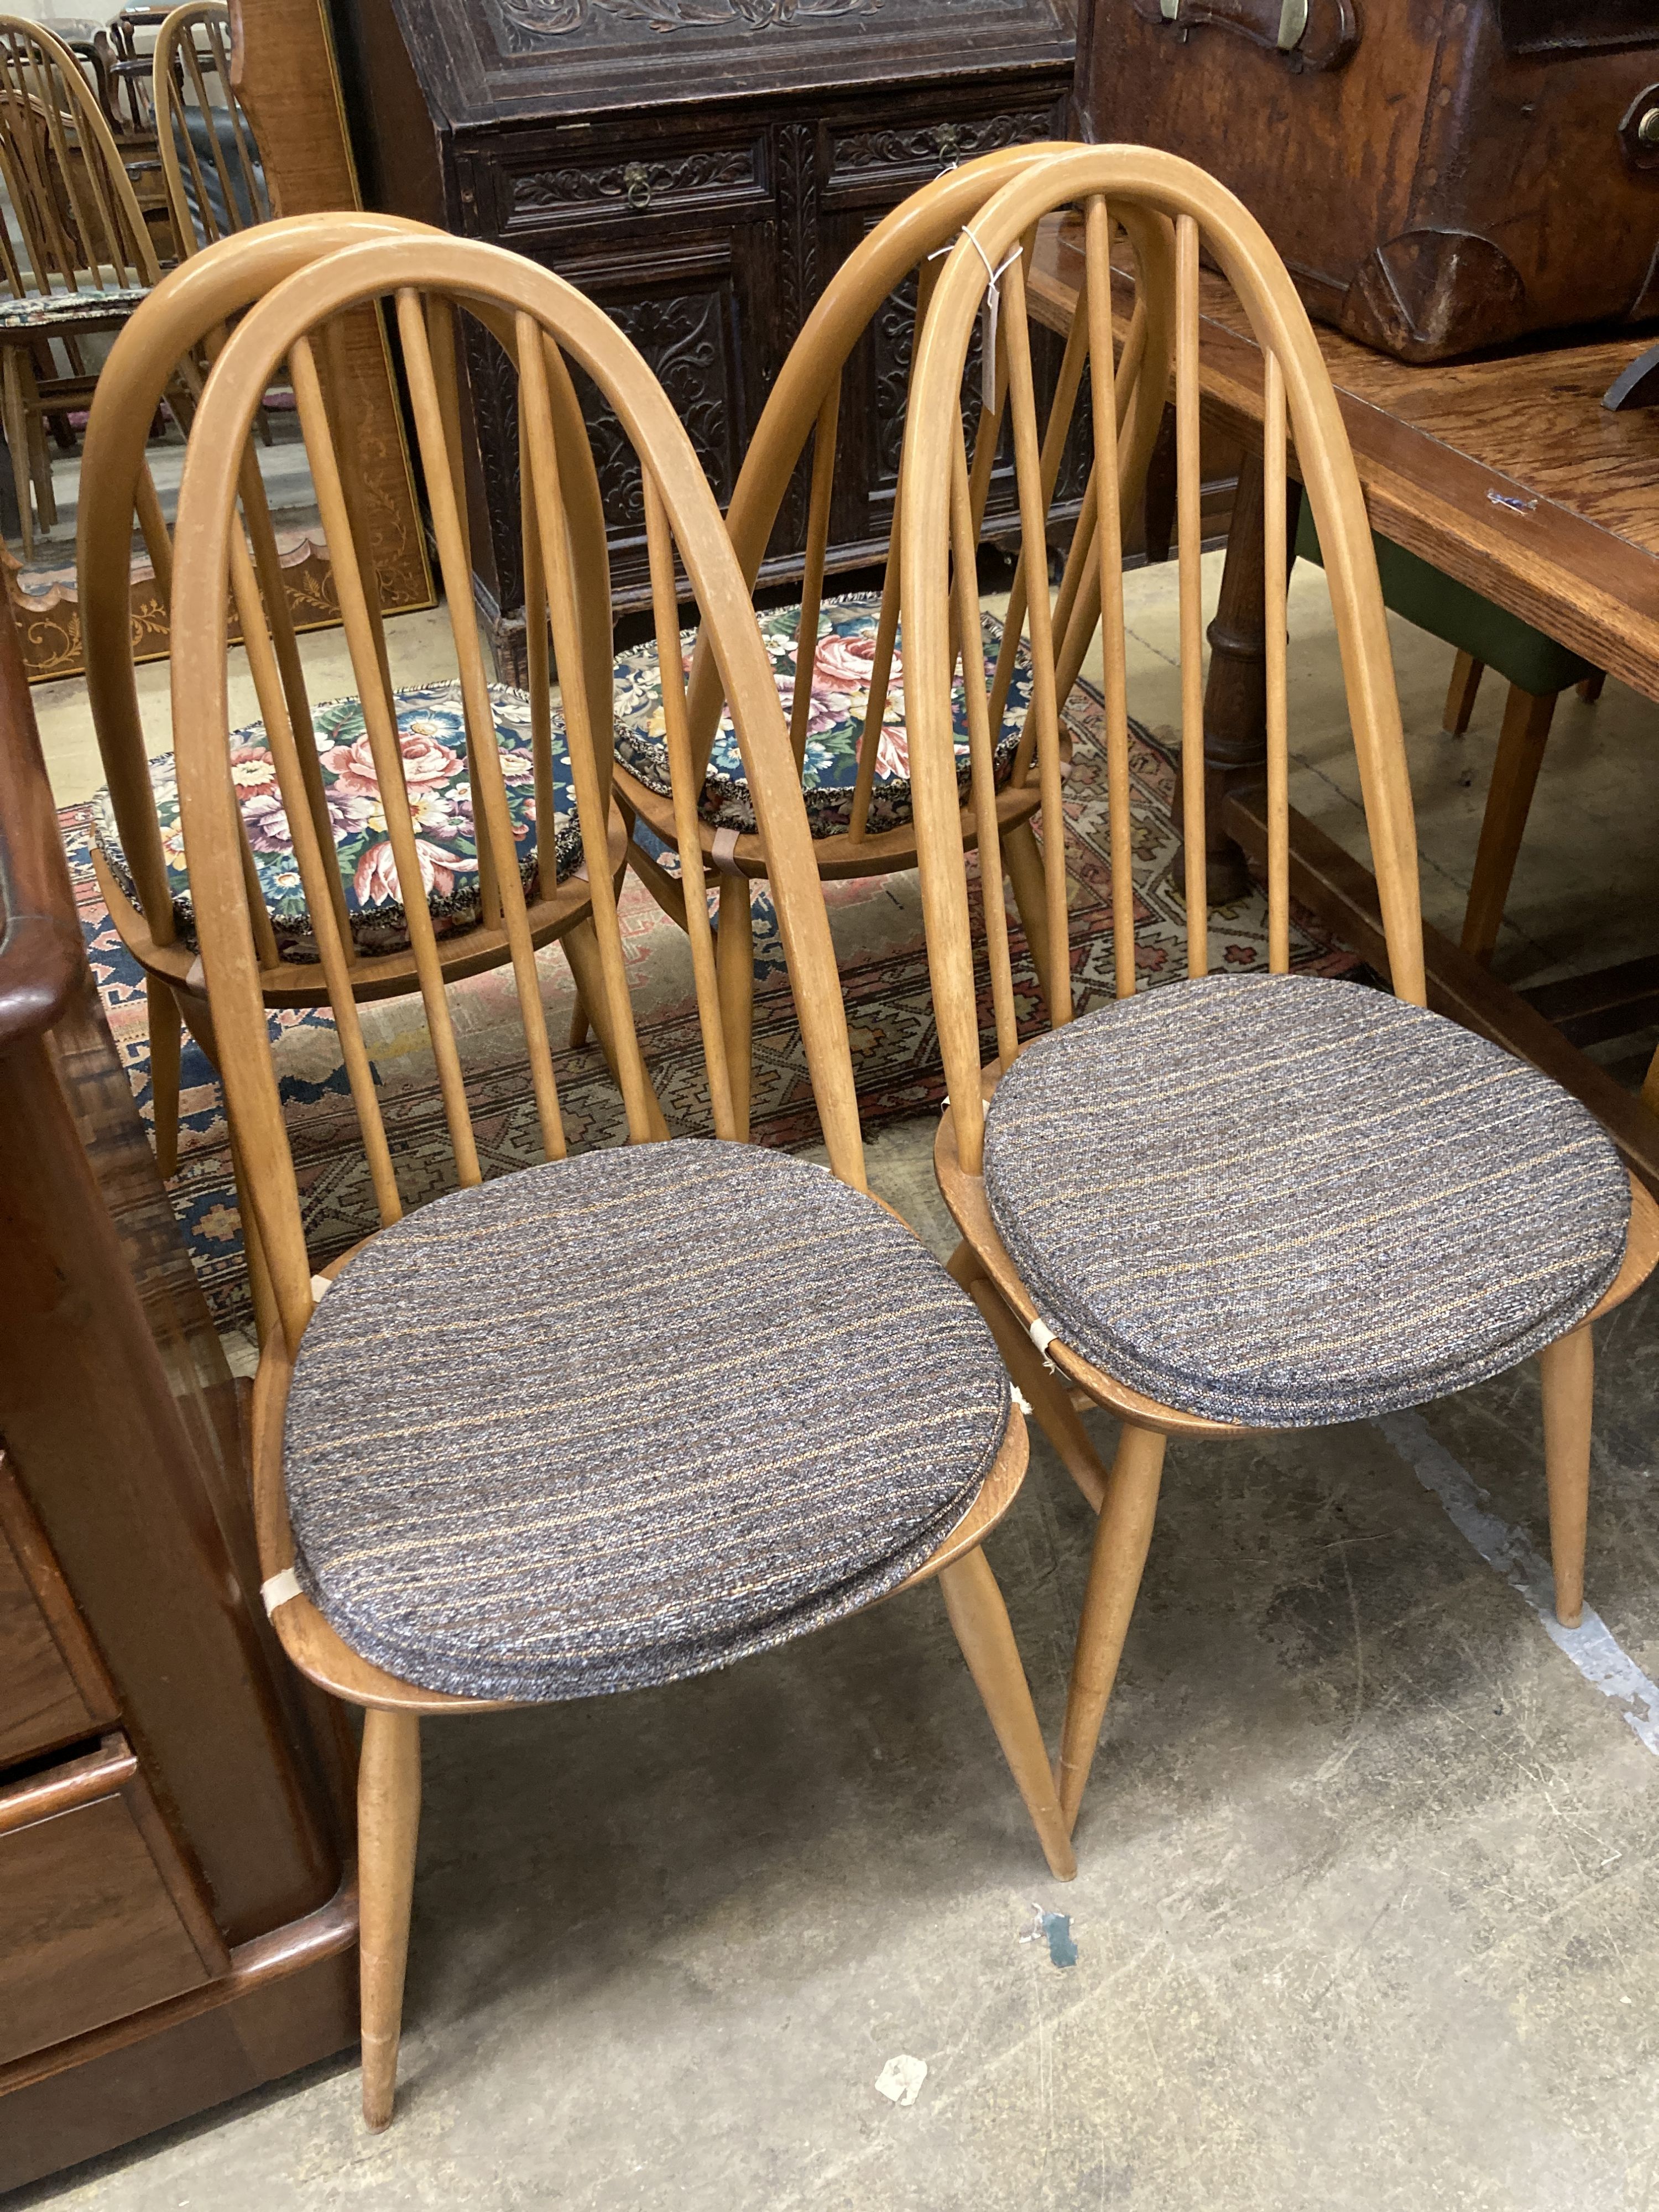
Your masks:
<path fill-rule="evenodd" d="M 648 232 L 655 215 L 714 215 L 770 199 L 765 142 L 615 148 L 571 159 L 564 148 L 504 157 L 495 177 L 500 232 L 584 230 L 595 221 Z"/>

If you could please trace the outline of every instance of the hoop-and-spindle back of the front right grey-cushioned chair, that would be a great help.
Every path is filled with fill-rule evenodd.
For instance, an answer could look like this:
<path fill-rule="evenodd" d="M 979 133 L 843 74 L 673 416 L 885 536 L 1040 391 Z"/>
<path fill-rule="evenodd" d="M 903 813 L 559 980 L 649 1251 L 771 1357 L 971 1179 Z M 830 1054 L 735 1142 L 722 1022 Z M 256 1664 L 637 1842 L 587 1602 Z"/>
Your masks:
<path fill-rule="evenodd" d="M 1287 843 L 1287 710 L 1285 710 L 1285 478 L 1287 431 L 1296 440 L 1296 469 L 1314 504 L 1343 677 L 1360 768 L 1365 816 L 1376 860 L 1383 922 L 1389 945 L 1394 989 L 1425 1002 L 1422 918 L 1418 905 L 1416 830 L 1405 765 L 1400 706 L 1394 688 L 1387 617 L 1376 575 L 1376 553 L 1365 515 L 1354 456 L 1332 389 L 1329 369 L 1314 338 L 1283 261 L 1256 219 L 1212 177 L 1175 155 L 1139 146 L 1091 146 L 1060 153 L 1011 181 L 973 223 L 938 281 L 911 374 L 911 405 L 900 473 L 902 593 L 907 622 L 907 710 L 911 776 L 927 914 L 929 964 L 940 1022 L 940 1044 L 949 1093 L 956 1104 L 958 1146 L 969 1172 L 978 1172 L 982 1106 L 980 1046 L 973 1002 L 969 902 L 962 867 L 962 834 L 951 750 L 951 664 L 956 630 L 971 591 L 964 568 L 971 551 L 967 456 L 962 447 L 958 387 L 973 321 L 987 296 L 987 270 L 1035 232 L 1055 210 L 1082 210 L 1086 230 L 1086 285 L 1079 316 L 1091 325 L 1097 358 L 1113 347 L 1113 228 L 1133 219 L 1172 226 L 1172 301 L 1146 296 L 1146 257 L 1139 254 L 1137 314 L 1164 316 L 1175 325 L 1177 400 L 1177 511 L 1181 593 L 1181 783 L 1188 887 L 1188 964 L 1208 969 L 1208 909 L 1203 869 L 1203 613 L 1201 613 L 1201 511 L 1199 511 L 1199 248 L 1230 281 L 1239 305 L 1265 356 L 1265 473 L 1267 473 L 1267 889 L 1270 964 L 1290 967 L 1290 843 Z M 1048 493 L 1037 467 L 1035 414 L 1026 349 L 1026 288 L 1022 265 L 1004 276 L 1002 319 L 1009 330 L 1013 387 L 1015 467 L 1020 476 L 1020 526 L 1026 571 L 1033 546 L 1044 544 Z M 1099 597 L 1091 613 L 1104 626 L 1106 664 L 1106 757 L 1113 838 L 1113 933 L 1117 995 L 1135 989 L 1135 922 L 1128 823 L 1128 703 L 1124 690 L 1124 602 L 1121 602 L 1121 513 L 1113 498 L 1119 471 L 1106 458 L 1119 445 L 1113 409 L 1093 394 L 1095 453 L 1099 480 Z M 1035 750 L 1044 790 L 1044 876 L 1051 938 L 1066 942 L 1066 856 L 1060 787 L 1057 714 L 1064 692 L 1055 684 L 1055 619 L 1046 593 L 1031 604 L 1031 653 L 1035 661 L 1033 717 Z M 973 721 L 973 684 L 969 719 Z M 975 785 L 978 787 L 978 785 Z M 995 854 L 982 843 L 984 880 L 995 880 Z M 998 1057 L 1006 1066 L 1018 1051 L 1013 1000 L 1006 987 L 1006 922 L 1002 902 L 987 898 L 991 980 L 998 998 Z M 1055 1020 L 1068 1020 L 1066 962 L 1053 958 L 1062 975 Z"/>

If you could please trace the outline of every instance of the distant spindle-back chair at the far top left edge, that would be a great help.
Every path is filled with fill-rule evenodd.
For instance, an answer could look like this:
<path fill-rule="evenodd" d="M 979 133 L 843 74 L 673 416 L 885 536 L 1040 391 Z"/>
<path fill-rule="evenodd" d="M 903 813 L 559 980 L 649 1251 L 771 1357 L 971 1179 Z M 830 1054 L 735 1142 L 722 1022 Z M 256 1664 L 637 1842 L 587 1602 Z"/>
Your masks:
<path fill-rule="evenodd" d="M 84 407 L 95 376 L 82 338 L 119 330 L 161 274 L 133 184 L 71 49 L 38 22 L 0 15 L 0 184 L 22 239 L 0 226 L 0 418 L 18 487 L 24 560 L 35 513 L 58 502 L 44 418 Z M 53 341 L 64 347 L 60 376 Z"/>

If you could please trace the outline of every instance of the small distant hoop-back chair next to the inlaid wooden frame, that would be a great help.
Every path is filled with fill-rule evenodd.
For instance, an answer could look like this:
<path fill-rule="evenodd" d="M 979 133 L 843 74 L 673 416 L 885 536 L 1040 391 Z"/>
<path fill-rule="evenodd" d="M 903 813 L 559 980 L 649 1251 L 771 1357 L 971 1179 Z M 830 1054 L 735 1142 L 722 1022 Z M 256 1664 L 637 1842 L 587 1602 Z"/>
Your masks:
<path fill-rule="evenodd" d="M 175 7 L 155 33 L 155 133 L 181 254 L 270 221 L 259 144 L 230 82 L 221 0 Z"/>

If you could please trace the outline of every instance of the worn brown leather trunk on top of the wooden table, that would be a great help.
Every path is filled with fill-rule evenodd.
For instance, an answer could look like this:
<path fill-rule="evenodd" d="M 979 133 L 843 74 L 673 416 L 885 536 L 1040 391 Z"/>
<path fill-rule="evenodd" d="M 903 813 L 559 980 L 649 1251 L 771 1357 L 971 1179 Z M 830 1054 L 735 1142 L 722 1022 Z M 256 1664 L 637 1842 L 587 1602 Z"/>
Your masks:
<path fill-rule="evenodd" d="M 1659 0 L 1082 0 L 1077 106 L 1400 361 L 1659 319 Z"/>

